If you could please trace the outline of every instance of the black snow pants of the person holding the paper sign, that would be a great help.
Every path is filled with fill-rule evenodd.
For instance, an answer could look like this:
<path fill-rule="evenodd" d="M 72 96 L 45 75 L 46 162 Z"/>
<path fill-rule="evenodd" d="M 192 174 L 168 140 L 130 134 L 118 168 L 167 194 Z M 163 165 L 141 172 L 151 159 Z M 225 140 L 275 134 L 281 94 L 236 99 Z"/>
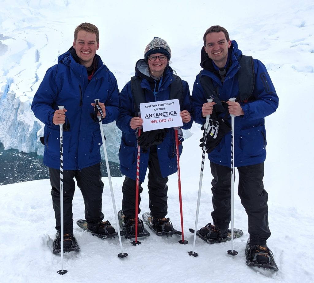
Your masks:
<path fill-rule="evenodd" d="M 160 166 L 157 156 L 156 146 L 152 146 L 149 151 L 148 160 L 148 194 L 149 209 L 152 216 L 156 218 L 164 218 L 168 213 L 167 192 L 168 177 L 163 178 L 160 173 Z M 143 188 L 142 182 L 138 186 L 138 213 L 141 212 L 139 205 Z M 135 218 L 135 199 L 136 199 L 136 180 L 125 177 L 122 185 L 122 211 L 125 219 Z"/>

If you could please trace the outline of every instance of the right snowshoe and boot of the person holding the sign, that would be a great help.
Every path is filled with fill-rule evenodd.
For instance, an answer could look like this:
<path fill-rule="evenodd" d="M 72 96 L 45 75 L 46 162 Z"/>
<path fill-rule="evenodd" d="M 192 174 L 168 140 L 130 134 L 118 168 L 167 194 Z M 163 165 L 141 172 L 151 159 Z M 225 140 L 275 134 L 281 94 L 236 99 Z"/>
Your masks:
<path fill-rule="evenodd" d="M 182 235 L 181 231 L 173 229 L 169 218 L 156 219 L 153 218 L 149 212 L 145 212 L 143 213 L 143 220 L 157 236 Z"/>

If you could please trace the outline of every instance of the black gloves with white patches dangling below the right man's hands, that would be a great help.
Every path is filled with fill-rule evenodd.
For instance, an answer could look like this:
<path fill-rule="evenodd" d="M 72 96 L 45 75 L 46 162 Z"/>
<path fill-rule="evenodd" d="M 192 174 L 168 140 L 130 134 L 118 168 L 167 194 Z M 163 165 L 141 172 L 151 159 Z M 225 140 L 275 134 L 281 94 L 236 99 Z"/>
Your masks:
<path fill-rule="evenodd" d="M 211 120 L 211 121 L 210 121 Z M 204 130 L 204 125 L 201 128 Z M 225 134 L 231 131 L 231 126 L 226 118 L 218 118 L 218 119 L 209 119 L 208 123 L 208 133 L 206 139 L 206 152 L 212 152 L 214 148 L 219 144 Z M 205 130 L 203 133 L 203 137 L 199 140 L 200 147 L 203 148 L 205 139 Z"/>

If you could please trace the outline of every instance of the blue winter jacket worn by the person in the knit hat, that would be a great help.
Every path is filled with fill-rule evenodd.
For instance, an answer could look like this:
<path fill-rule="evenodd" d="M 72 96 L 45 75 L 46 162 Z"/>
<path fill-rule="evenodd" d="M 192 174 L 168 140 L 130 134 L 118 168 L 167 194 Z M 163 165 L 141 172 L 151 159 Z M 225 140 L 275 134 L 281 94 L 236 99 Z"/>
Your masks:
<path fill-rule="evenodd" d="M 173 79 L 173 71 L 171 67 L 166 67 L 161 85 L 158 88 L 156 96 L 149 85 L 149 72 L 147 63 L 141 59 L 136 64 L 135 76 L 142 77 L 141 87 L 145 91 L 146 102 L 168 100 L 170 94 L 170 84 Z M 152 79 L 150 79 L 152 80 Z M 159 82 L 154 81 L 155 84 Z M 192 126 L 192 104 L 189 86 L 186 81 L 183 84 L 183 101 L 181 111 L 187 110 L 191 113 L 191 121 L 183 123 L 182 129 L 190 129 Z M 129 81 L 121 91 L 121 109 L 120 116 L 116 121 L 116 125 L 122 131 L 121 145 L 119 149 L 120 170 L 122 174 L 135 180 L 137 165 L 137 130 L 131 129 L 130 122 L 135 117 L 133 94 L 131 91 L 131 81 Z M 157 155 L 160 165 L 160 171 L 163 178 L 177 172 L 176 161 L 176 141 L 175 131 L 173 128 L 168 129 L 164 141 L 157 146 Z M 183 138 L 179 138 L 183 141 Z M 182 144 L 179 142 L 179 154 L 182 152 Z M 149 150 L 146 153 L 140 152 L 139 180 L 143 182 L 148 168 Z"/>

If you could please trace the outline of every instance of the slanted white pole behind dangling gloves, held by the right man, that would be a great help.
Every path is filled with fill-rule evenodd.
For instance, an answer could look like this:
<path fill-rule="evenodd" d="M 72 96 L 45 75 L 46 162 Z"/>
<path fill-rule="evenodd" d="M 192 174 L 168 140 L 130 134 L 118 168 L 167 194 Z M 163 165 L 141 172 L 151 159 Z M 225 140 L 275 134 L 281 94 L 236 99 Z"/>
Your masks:
<path fill-rule="evenodd" d="M 212 101 L 213 101 L 213 99 L 207 99 L 207 102 L 212 102 Z M 201 174 L 199 176 L 199 185 L 198 185 L 198 198 L 197 198 L 197 207 L 196 207 L 196 216 L 195 216 L 193 250 L 191 252 L 188 252 L 189 255 L 192 255 L 194 257 L 198 256 L 198 253 L 194 252 L 194 248 L 195 248 L 195 241 L 196 241 L 199 204 L 201 201 L 201 191 L 202 191 L 202 183 L 203 183 L 203 171 L 204 171 L 204 163 L 205 163 L 206 141 L 207 141 L 209 117 L 210 117 L 210 115 L 206 115 L 206 122 L 205 122 L 205 128 L 204 128 L 204 145 L 203 145 L 203 154 L 202 154 Z"/>

